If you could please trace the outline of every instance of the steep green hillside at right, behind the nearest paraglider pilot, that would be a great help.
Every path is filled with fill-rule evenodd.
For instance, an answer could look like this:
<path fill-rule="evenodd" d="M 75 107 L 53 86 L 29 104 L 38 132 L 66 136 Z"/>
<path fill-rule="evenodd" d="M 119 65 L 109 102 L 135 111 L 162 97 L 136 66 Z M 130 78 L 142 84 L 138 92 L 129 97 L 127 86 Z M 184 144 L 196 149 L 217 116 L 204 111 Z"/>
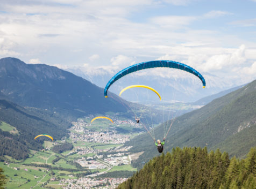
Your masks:
<path fill-rule="evenodd" d="M 173 147 L 207 146 L 208 149 L 226 150 L 231 156 L 241 158 L 256 146 L 256 80 L 250 84 L 212 101 L 204 107 L 176 118 L 165 144 L 165 151 Z M 163 138 L 163 125 L 155 129 L 155 136 Z M 158 155 L 148 134 L 126 142 L 132 152 L 144 152 L 133 166 L 141 167 Z"/>

